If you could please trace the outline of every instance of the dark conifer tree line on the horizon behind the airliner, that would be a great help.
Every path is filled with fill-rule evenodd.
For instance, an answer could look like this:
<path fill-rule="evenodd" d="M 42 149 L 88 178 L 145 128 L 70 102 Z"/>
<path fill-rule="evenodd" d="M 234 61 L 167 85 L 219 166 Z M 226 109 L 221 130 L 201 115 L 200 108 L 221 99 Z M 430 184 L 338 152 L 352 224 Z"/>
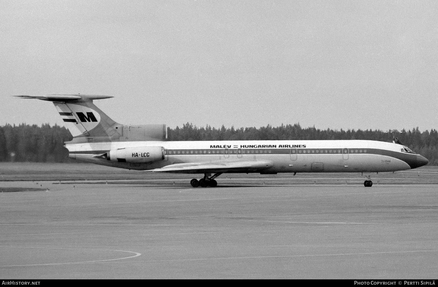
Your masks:
<path fill-rule="evenodd" d="M 431 129 L 420 132 L 412 130 L 361 130 L 361 129 L 316 129 L 301 128 L 300 124 L 278 127 L 270 125 L 260 128 L 234 127 L 220 129 L 211 126 L 197 127 L 191 123 L 181 128 L 167 128 L 168 140 L 378 140 L 391 142 L 393 136 L 410 147 L 411 150 L 425 156 L 429 165 L 438 165 L 438 132 Z M 67 158 L 68 151 L 63 147 L 65 141 L 72 139 L 70 132 L 61 126 L 42 126 L 6 124 L 0 126 L 0 161 L 32 161 L 32 162 L 71 162 Z"/>

